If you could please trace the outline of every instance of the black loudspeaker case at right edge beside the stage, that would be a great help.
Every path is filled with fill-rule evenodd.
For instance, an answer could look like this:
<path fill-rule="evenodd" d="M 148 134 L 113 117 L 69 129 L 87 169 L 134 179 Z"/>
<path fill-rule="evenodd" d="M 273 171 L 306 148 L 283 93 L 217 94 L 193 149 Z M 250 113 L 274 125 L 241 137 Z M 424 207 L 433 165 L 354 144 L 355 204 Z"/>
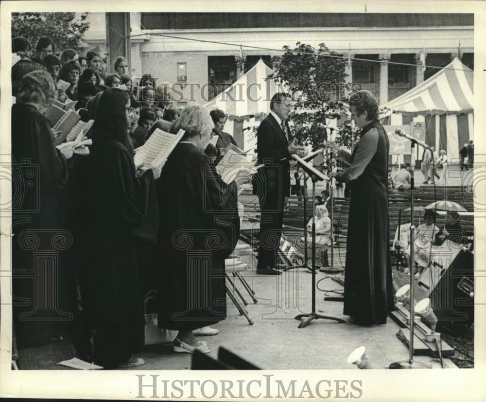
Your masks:
<path fill-rule="evenodd" d="M 444 266 L 441 261 L 449 264 Z M 441 260 L 439 255 L 435 255 L 432 264 L 432 269 L 439 273 L 430 292 L 432 308 L 438 319 L 436 330 L 452 335 L 462 334 L 474 322 L 474 254 L 466 248 L 459 248 L 452 262 L 447 257 Z"/>

